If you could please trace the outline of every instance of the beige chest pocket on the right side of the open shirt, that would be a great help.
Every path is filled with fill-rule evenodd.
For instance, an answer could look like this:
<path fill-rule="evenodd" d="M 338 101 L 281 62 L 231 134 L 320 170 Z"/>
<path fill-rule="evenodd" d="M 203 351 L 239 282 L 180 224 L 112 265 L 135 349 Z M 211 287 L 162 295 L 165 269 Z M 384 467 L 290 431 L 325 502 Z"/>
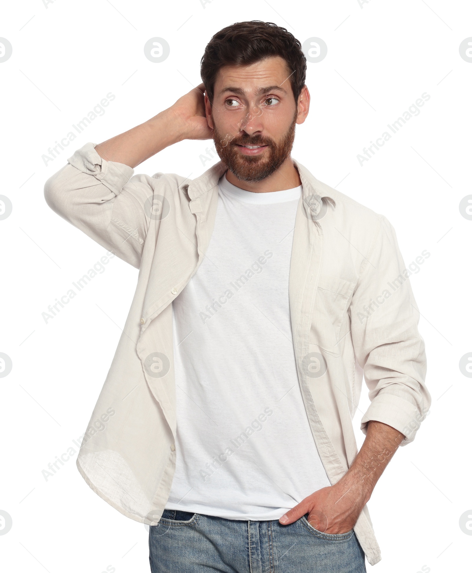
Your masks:
<path fill-rule="evenodd" d="M 322 275 L 314 300 L 310 343 L 333 355 L 350 330 L 348 308 L 355 284 L 340 277 Z"/>

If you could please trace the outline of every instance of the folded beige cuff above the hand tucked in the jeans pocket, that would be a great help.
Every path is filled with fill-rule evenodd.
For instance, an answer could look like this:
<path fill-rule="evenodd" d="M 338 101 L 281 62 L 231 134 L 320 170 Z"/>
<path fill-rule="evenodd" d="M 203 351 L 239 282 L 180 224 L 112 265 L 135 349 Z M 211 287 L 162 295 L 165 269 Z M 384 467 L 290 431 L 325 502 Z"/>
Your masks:
<path fill-rule="evenodd" d="M 360 422 L 360 429 L 367 434 L 370 420 L 388 424 L 401 432 L 405 439 L 400 446 L 406 446 L 415 439 L 416 431 L 427 413 L 421 413 L 411 402 L 394 394 L 378 394 L 371 402 Z"/>

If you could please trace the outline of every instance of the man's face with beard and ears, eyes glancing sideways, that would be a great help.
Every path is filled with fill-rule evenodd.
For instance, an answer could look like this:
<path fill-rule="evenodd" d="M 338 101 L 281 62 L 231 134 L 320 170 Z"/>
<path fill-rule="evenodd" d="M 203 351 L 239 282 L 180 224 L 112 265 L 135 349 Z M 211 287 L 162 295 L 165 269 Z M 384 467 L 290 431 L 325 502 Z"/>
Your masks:
<path fill-rule="evenodd" d="M 309 102 L 305 87 L 297 107 L 290 73 L 279 56 L 218 72 L 207 118 L 220 159 L 239 180 L 261 181 L 290 156 L 295 125 L 305 120 Z"/>

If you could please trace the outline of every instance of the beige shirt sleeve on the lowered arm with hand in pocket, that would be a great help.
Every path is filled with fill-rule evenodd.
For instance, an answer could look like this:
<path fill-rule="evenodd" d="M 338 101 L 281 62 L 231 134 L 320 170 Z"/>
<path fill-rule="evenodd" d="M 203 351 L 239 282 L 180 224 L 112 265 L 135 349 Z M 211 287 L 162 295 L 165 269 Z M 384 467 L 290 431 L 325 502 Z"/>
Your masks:
<path fill-rule="evenodd" d="M 371 400 L 361 430 L 367 432 L 369 420 L 386 423 L 406 436 L 402 445 L 413 441 L 431 405 L 411 274 L 393 227 L 380 217 L 349 313 L 356 359 L 364 368 Z"/>

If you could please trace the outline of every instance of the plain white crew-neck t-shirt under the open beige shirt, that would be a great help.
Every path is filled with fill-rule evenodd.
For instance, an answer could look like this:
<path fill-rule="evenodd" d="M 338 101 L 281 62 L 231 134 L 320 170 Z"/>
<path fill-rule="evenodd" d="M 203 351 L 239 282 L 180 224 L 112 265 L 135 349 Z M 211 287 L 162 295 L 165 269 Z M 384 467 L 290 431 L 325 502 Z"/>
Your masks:
<path fill-rule="evenodd" d="M 279 519 L 331 485 L 306 417 L 290 325 L 301 193 L 219 181 L 206 256 L 172 303 L 177 439 L 167 509 Z"/>

